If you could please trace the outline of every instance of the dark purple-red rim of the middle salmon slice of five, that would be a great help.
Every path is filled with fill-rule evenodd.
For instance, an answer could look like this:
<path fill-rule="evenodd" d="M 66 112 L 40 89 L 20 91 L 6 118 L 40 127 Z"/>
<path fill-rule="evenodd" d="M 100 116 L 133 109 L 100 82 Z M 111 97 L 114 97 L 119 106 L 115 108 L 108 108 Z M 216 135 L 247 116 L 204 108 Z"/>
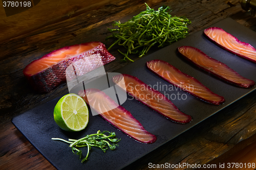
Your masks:
<path fill-rule="evenodd" d="M 151 61 L 153 61 L 153 60 L 151 60 Z M 161 61 L 161 62 L 163 62 L 162 60 L 155 60 L 155 61 Z M 147 66 L 147 63 L 149 63 L 149 62 L 150 62 L 150 61 L 147 61 L 147 62 L 146 62 L 146 67 L 147 67 L 149 70 L 151 70 L 155 75 L 157 75 L 158 77 L 162 78 L 162 79 L 165 80 L 166 82 L 168 82 L 168 83 L 174 85 L 175 87 L 178 87 L 178 88 L 182 89 L 180 86 L 178 86 L 178 85 L 176 85 L 176 84 L 174 84 L 174 83 L 168 81 L 168 80 L 165 79 L 164 77 L 158 75 L 154 70 L 152 70 L 151 68 L 149 68 L 149 67 Z M 167 62 L 166 62 L 166 63 L 167 63 Z M 168 63 L 168 65 L 170 65 L 170 64 Z M 172 65 L 170 65 L 170 66 L 172 66 Z M 174 66 L 172 66 L 172 67 L 174 67 Z M 185 75 L 185 76 L 187 76 L 187 77 L 191 77 L 191 76 L 185 74 L 184 72 L 182 72 L 181 70 L 179 70 L 178 68 L 176 68 L 176 67 L 174 67 L 174 68 L 175 68 L 178 72 L 181 72 L 183 75 Z M 205 87 L 205 88 L 206 88 L 208 91 L 210 91 L 212 94 L 218 95 L 218 94 L 212 92 L 208 87 L 206 87 L 205 85 L 203 85 L 201 82 L 199 82 L 196 78 L 194 78 L 194 77 L 191 77 L 191 78 L 194 79 L 196 82 L 200 83 L 203 87 Z M 183 89 L 182 89 L 182 90 L 183 90 Z M 204 101 L 204 102 L 210 103 L 210 104 L 221 105 L 221 104 L 223 104 L 223 103 L 225 102 L 224 97 L 223 97 L 223 96 L 220 96 L 220 95 L 218 95 L 218 96 L 220 96 L 220 97 L 222 98 L 222 100 L 219 101 L 219 102 L 214 102 L 214 101 L 210 101 L 210 100 L 206 100 L 206 99 L 204 99 L 204 98 L 201 98 L 200 96 L 198 96 L 198 95 L 196 95 L 196 94 L 194 94 L 194 93 L 192 93 L 192 92 L 189 92 L 188 90 L 183 90 L 183 91 L 185 91 L 185 92 L 187 92 L 187 93 L 189 93 L 189 94 L 195 96 L 196 98 L 198 98 L 198 99 L 200 99 L 200 100 L 202 100 L 202 101 Z"/>

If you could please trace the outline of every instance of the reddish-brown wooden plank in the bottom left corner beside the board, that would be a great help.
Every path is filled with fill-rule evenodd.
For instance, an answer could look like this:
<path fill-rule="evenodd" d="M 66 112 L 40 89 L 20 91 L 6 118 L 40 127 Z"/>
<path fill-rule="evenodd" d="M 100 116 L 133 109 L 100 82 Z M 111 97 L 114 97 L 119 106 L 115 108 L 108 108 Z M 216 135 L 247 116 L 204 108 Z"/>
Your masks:
<path fill-rule="evenodd" d="M 11 124 L 1 124 L 1 169 L 55 169 Z"/>

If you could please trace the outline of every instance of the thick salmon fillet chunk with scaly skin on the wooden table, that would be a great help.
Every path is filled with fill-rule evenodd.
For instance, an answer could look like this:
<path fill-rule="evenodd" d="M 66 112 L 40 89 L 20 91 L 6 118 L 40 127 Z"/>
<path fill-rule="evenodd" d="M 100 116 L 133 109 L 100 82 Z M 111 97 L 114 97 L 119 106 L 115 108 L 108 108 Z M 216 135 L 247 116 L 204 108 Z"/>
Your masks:
<path fill-rule="evenodd" d="M 107 64 L 115 57 L 112 56 L 101 42 L 87 42 L 65 46 L 38 60 L 32 61 L 23 70 L 24 76 L 31 86 L 39 92 L 50 92 L 59 84 L 66 82 L 66 68 L 80 59 L 93 61 L 93 55 L 100 55 L 100 63 Z M 86 63 L 86 62 L 85 62 Z M 91 67 L 91 65 L 83 65 Z"/>

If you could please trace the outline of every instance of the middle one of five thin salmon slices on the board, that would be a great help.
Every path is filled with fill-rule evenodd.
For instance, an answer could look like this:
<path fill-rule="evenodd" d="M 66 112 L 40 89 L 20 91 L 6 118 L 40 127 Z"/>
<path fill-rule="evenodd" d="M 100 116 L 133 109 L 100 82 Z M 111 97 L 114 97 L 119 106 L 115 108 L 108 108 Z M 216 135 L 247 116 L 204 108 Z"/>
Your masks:
<path fill-rule="evenodd" d="M 178 68 L 165 61 L 151 60 L 146 62 L 146 66 L 165 81 L 205 102 L 214 105 L 220 105 L 225 102 L 223 96 L 210 91 L 197 79 L 181 72 Z"/>

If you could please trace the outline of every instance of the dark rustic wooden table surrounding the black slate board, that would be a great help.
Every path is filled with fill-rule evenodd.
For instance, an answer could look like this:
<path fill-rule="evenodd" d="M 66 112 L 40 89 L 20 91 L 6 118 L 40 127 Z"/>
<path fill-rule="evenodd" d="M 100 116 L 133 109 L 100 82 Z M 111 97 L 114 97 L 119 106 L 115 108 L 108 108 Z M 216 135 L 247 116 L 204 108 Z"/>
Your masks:
<path fill-rule="evenodd" d="M 67 93 L 67 85 L 64 83 L 50 93 L 39 94 L 30 88 L 23 76 L 24 67 L 32 60 L 66 45 L 101 41 L 108 47 L 110 43 L 105 38 L 110 35 L 107 28 L 111 27 L 112 21 L 126 21 L 145 10 L 145 2 L 155 9 L 166 4 L 172 7 L 172 15 L 187 16 L 192 22 L 188 26 L 189 34 L 227 17 L 256 31 L 256 18 L 243 11 L 239 1 L 121 0 L 95 1 L 95 4 L 88 5 L 82 1 L 73 4 L 72 1 L 62 0 L 57 4 L 52 1 L 40 2 L 31 11 L 25 11 L 24 15 L 20 13 L 8 18 L 2 12 L 0 169 L 55 169 L 10 120 L 24 111 Z M 36 12 L 38 10 L 40 13 Z M 130 64 L 121 63 L 122 56 L 116 50 L 113 48 L 110 51 L 117 59 L 105 65 L 106 71 L 114 71 Z M 256 141 L 255 104 L 256 91 L 125 169 L 150 169 L 150 162 L 211 164 L 223 161 L 227 156 Z"/>

